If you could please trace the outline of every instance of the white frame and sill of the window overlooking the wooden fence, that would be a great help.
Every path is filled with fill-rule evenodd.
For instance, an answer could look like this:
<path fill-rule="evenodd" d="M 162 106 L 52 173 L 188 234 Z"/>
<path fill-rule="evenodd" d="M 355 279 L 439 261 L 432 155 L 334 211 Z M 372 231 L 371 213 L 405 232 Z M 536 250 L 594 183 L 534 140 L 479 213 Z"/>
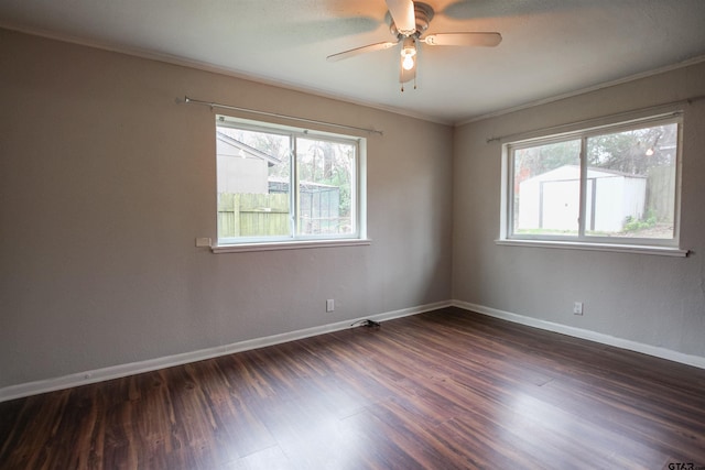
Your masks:
<path fill-rule="evenodd" d="M 290 234 L 288 236 L 263 236 L 263 237 L 219 237 L 219 228 L 216 228 L 216 242 L 213 244 L 214 253 L 241 252 L 241 251 L 269 251 L 269 250 L 290 250 L 302 248 L 328 248 L 370 244 L 367 239 L 367 182 L 366 182 L 366 160 L 367 160 L 367 139 L 361 135 L 350 135 L 322 131 L 312 128 L 300 128 L 294 125 L 285 125 L 275 122 L 257 121 L 251 119 L 237 118 L 228 114 L 218 113 L 215 116 L 214 135 L 219 127 L 232 128 L 243 131 L 262 132 L 269 134 L 278 134 L 289 136 L 290 140 L 290 175 L 289 175 L 289 209 L 290 209 Z M 355 230 L 350 233 L 324 233 L 324 234 L 306 234 L 299 233 L 300 226 L 300 198 L 299 193 L 299 159 L 296 157 L 296 139 L 322 140 L 327 142 L 343 143 L 355 146 L 355 164 L 351 168 L 350 185 L 355 192 L 354 216 Z M 216 155 L 217 157 L 217 152 Z M 216 174 L 218 167 L 216 165 Z M 216 185 L 216 196 L 217 196 Z M 215 208 L 216 225 L 217 204 Z"/>

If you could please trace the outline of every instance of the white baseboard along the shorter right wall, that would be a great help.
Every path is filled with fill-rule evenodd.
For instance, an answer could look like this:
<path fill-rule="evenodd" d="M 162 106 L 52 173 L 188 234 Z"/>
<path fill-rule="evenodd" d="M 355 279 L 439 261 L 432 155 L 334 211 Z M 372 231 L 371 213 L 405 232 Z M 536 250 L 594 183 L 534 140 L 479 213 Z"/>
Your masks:
<path fill-rule="evenodd" d="M 583 328 L 554 324 L 552 321 L 512 314 L 510 311 L 498 310 L 497 308 L 486 307 L 484 305 L 470 304 L 469 302 L 452 300 L 451 304 L 454 307 L 476 311 L 478 314 L 500 318 L 516 324 L 527 325 L 547 331 L 560 332 L 575 338 L 587 339 L 589 341 L 600 342 L 603 345 L 614 346 L 630 351 L 641 352 L 643 354 L 654 356 L 661 359 L 668 359 L 669 361 L 680 362 L 687 365 L 694 365 L 699 369 L 705 369 L 705 358 L 701 356 L 685 354 L 683 352 L 660 348 L 658 346 L 644 345 L 642 342 L 604 335 L 601 332 L 590 331 Z"/>

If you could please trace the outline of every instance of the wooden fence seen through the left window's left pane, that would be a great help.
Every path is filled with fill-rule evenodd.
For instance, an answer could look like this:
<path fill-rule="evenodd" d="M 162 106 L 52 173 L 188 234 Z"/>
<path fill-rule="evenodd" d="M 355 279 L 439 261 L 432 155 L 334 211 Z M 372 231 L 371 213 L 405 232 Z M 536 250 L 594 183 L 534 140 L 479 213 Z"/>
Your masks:
<path fill-rule="evenodd" d="M 289 195 L 218 194 L 218 238 L 289 234 Z"/>

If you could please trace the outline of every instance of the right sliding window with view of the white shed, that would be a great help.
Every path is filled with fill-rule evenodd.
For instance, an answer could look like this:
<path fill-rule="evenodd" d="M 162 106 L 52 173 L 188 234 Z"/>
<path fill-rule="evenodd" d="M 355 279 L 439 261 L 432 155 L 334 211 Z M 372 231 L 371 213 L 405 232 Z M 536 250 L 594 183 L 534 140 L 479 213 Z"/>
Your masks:
<path fill-rule="evenodd" d="M 677 247 L 680 114 L 505 144 L 502 240 Z"/>

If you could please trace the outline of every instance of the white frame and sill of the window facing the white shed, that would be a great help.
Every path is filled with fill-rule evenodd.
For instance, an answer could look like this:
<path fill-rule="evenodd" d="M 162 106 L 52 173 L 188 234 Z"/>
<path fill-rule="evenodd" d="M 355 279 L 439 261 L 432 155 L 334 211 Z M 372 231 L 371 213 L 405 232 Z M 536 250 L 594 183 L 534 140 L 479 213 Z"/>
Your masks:
<path fill-rule="evenodd" d="M 586 195 L 587 170 L 586 157 L 587 141 L 590 138 L 607 135 L 630 130 L 676 124 L 676 152 L 675 152 L 675 183 L 674 183 L 674 212 L 673 238 L 627 238 L 595 236 L 586 233 Z M 579 207 L 578 207 L 578 233 L 573 234 L 536 234 L 514 232 L 514 154 L 516 151 L 558 142 L 579 141 Z M 680 248 L 681 225 L 681 167 L 683 161 L 683 112 L 672 111 L 662 114 L 653 114 L 630 119 L 626 121 L 608 121 L 589 128 L 581 128 L 561 133 L 534 133 L 521 135 L 509 142 L 502 143 L 502 179 L 501 179 L 501 215 L 500 236 L 497 244 L 532 245 L 542 248 L 568 248 L 579 250 L 598 251 L 627 251 L 643 254 L 666 254 L 684 256 L 687 250 Z"/>

